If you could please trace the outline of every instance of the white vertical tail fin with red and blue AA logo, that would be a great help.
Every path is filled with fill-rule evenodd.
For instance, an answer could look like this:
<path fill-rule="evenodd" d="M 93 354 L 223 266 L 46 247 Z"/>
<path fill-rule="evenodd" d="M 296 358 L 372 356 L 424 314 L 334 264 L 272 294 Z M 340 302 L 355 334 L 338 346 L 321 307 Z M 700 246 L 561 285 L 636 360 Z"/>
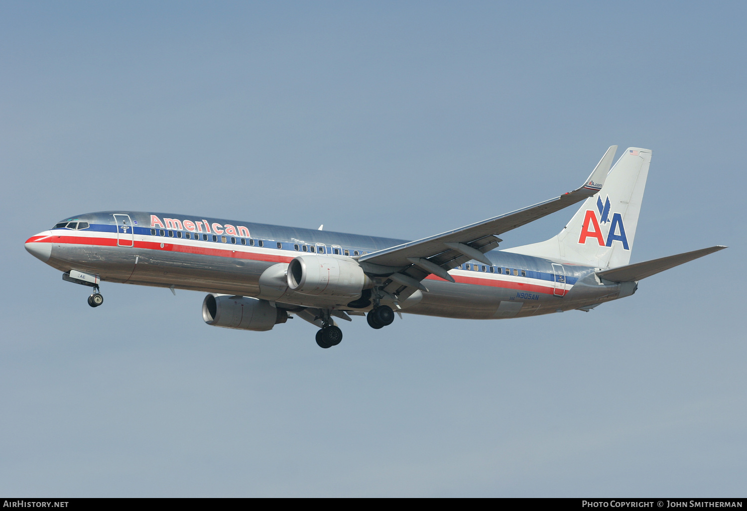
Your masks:
<path fill-rule="evenodd" d="M 557 236 L 506 252 L 599 268 L 624 266 L 630 262 L 650 163 L 651 150 L 629 147 L 601 190 L 583 202 Z"/>

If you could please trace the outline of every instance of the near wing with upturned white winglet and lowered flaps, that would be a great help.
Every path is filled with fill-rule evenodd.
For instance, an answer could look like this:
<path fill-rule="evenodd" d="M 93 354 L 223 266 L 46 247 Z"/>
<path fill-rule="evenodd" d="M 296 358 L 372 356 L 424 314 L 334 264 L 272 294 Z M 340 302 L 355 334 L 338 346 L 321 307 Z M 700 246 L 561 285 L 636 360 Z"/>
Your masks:
<path fill-rule="evenodd" d="M 362 255 L 359 262 L 369 274 L 391 276 L 391 285 L 387 285 L 386 291 L 396 291 L 401 286 L 412 288 L 412 291 L 415 288 L 427 291 L 419 282 L 430 273 L 453 282 L 447 270 L 459 264 L 471 259 L 492 264 L 484 253 L 498 247 L 502 240 L 497 235 L 560 211 L 600 191 L 616 150 L 617 146 L 607 149 L 589 179 L 574 191 L 460 229 Z"/>

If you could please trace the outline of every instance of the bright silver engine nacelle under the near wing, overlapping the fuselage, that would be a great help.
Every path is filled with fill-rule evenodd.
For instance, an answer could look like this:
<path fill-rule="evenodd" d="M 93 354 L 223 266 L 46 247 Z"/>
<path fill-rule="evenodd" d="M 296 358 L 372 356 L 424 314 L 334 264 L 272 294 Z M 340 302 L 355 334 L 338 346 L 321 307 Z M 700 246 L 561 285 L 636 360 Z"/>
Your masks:
<path fill-rule="evenodd" d="M 288 288 L 314 297 L 359 297 L 373 282 L 353 259 L 300 255 L 288 264 Z"/>

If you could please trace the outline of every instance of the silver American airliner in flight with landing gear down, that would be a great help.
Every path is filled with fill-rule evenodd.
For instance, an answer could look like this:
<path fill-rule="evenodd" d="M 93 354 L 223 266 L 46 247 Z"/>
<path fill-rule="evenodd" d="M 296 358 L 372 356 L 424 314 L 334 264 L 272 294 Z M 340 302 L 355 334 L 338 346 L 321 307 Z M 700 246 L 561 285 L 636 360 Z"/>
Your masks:
<path fill-rule="evenodd" d="M 523 318 L 628 297 L 647 276 L 726 247 L 630 263 L 651 151 L 612 146 L 579 188 L 528 208 L 417 241 L 238 220 L 139 211 L 81 214 L 28 238 L 29 253 L 68 282 L 155 285 L 208 293 L 213 326 L 269 330 L 292 315 L 339 344 L 336 319 L 366 316 L 380 329 L 397 312 L 446 318 Z M 500 238 L 574 203 L 547 241 L 494 250 Z"/>

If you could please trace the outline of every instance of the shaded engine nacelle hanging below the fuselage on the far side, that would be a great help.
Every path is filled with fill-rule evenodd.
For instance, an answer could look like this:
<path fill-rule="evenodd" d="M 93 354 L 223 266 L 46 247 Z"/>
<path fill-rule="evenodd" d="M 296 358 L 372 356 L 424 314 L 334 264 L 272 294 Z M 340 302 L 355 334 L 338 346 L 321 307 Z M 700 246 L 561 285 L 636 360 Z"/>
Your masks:
<path fill-rule="evenodd" d="M 202 319 L 208 325 L 264 332 L 278 323 L 285 323 L 288 314 L 271 306 L 267 300 L 208 294 L 202 300 Z"/>

